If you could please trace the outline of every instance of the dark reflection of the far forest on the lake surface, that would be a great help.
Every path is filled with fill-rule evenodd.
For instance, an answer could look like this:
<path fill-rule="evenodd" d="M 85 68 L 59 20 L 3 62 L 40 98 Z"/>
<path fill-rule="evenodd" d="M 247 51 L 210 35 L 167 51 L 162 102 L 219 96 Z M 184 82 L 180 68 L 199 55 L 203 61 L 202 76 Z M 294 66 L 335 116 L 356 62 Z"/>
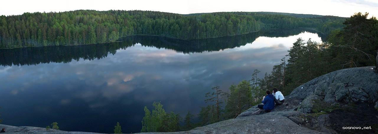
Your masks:
<path fill-rule="evenodd" d="M 0 49 L 0 65 L 37 65 L 40 63 L 68 63 L 73 60 L 95 60 L 107 57 L 108 54 L 116 54 L 118 49 L 127 49 L 136 43 L 142 46 L 172 49 L 184 54 L 204 51 L 219 51 L 228 48 L 244 46 L 252 43 L 260 36 L 265 37 L 288 37 L 300 34 L 311 29 L 274 29 L 268 31 L 252 32 L 249 34 L 206 38 L 198 40 L 180 40 L 169 37 L 134 35 L 122 38 L 113 43 L 96 45 L 73 45 L 73 46 L 45 46 L 27 47 L 17 49 Z M 316 33 L 315 31 L 311 31 Z M 322 35 L 319 34 L 318 35 Z M 322 37 L 322 40 L 324 38 Z"/>

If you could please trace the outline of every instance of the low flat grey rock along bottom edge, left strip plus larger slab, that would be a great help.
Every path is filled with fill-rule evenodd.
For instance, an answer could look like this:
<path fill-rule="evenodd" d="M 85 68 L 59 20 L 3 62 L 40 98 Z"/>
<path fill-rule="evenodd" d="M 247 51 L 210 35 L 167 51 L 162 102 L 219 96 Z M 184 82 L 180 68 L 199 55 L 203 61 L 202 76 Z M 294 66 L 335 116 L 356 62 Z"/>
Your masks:
<path fill-rule="evenodd" d="M 149 132 L 140 134 L 323 134 L 322 132 L 314 131 L 298 125 L 290 118 L 295 118 L 301 113 L 293 111 L 290 113 L 274 113 L 240 117 L 222 122 L 213 123 L 210 125 L 194 128 L 190 131 L 183 132 Z M 274 126 L 274 127 L 271 127 Z M 30 132 L 34 134 L 98 134 L 90 132 L 67 132 L 67 131 L 46 131 L 45 128 L 37 128 L 30 126 L 14 127 L 0 125 L 5 127 L 7 132 L 11 134 L 24 134 Z"/>

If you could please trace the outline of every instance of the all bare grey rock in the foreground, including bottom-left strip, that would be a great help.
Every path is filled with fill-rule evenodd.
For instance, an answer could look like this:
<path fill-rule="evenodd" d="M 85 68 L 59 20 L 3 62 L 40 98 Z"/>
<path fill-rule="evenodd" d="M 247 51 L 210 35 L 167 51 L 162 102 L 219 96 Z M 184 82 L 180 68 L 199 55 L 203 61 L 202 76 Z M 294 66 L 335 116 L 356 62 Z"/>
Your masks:
<path fill-rule="evenodd" d="M 332 129 L 335 128 L 335 121 L 330 118 L 329 114 L 321 114 L 308 119 L 307 113 L 312 111 L 314 103 L 317 101 L 330 105 L 365 102 L 373 103 L 375 108 L 378 108 L 378 73 L 373 72 L 372 68 L 372 66 L 348 68 L 317 77 L 294 89 L 289 96 L 285 97 L 283 105 L 276 106 L 268 113 L 265 111 L 256 112 L 258 110 L 256 105 L 241 113 L 235 119 L 197 127 L 190 131 L 143 134 L 337 134 Z M 367 108 L 363 107 L 363 109 Z M 342 112 L 339 109 L 338 113 L 333 113 L 331 117 L 335 118 Z M 364 117 L 362 114 L 366 114 L 366 111 L 349 113 L 347 116 L 355 113 L 358 113 L 358 118 L 361 119 L 361 117 Z M 369 114 L 374 113 L 376 111 L 372 108 Z M 373 119 L 374 117 L 374 115 L 370 115 L 368 118 L 378 120 L 378 118 Z M 59 130 L 47 131 L 45 128 L 30 126 L 0 125 L 0 128 L 6 128 L 6 131 L 11 132 L 11 134 L 24 134 L 25 132 L 33 134 L 98 134 Z"/>

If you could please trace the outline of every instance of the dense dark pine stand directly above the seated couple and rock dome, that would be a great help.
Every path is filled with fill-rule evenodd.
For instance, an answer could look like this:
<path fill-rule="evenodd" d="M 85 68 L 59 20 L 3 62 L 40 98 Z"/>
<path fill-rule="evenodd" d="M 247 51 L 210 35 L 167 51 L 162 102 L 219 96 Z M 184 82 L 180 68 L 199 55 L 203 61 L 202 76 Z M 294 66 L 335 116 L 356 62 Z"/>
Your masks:
<path fill-rule="evenodd" d="M 298 39 L 287 55 L 289 59 L 265 74 L 260 86 L 277 87 L 289 95 L 316 77 L 344 68 L 375 66 L 378 50 L 378 20 L 368 13 L 356 13 L 347 19 L 341 30 L 333 30 L 327 42 Z"/>

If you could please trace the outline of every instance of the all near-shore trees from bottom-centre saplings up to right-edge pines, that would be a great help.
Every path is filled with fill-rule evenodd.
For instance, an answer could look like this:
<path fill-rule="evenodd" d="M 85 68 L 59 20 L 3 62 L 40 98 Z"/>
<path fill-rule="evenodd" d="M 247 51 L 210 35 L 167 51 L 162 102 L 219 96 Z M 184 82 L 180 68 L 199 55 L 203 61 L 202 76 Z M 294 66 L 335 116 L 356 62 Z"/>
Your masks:
<path fill-rule="evenodd" d="M 146 116 L 142 121 L 141 132 L 183 131 L 235 118 L 251 106 L 261 103 L 265 90 L 276 87 L 284 95 L 289 95 L 297 86 L 320 75 L 343 68 L 375 66 L 378 20 L 367 16 L 367 13 L 352 15 L 343 23 L 343 29 L 331 32 L 327 42 L 318 43 L 310 39 L 305 42 L 301 38 L 297 39 L 289 50 L 288 59 L 283 57 L 279 65 L 273 66 L 271 74 L 266 73 L 263 79 L 257 77 L 260 71 L 254 70 L 250 80 L 231 85 L 230 92 L 223 92 L 219 86 L 215 86 L 211 92 L 205 94 L 208 106 L 201 108 L 197 123 L 192 122 L 194 116 L 188 112 L 183 126 L 175 123 L 171 124 L 174 126 L 169 126 L 170 129 L 164 129 L 167 123 L 161 120 L 180 122 L 181 118 L 174 112 L 165 113 L 163 105 L 155 102 L 153 111 L 161 111 L 161 115 L 149 114 L 149 110 L 145 108 Z M 149 129 L 153 127 L 160 129 Z"/>

